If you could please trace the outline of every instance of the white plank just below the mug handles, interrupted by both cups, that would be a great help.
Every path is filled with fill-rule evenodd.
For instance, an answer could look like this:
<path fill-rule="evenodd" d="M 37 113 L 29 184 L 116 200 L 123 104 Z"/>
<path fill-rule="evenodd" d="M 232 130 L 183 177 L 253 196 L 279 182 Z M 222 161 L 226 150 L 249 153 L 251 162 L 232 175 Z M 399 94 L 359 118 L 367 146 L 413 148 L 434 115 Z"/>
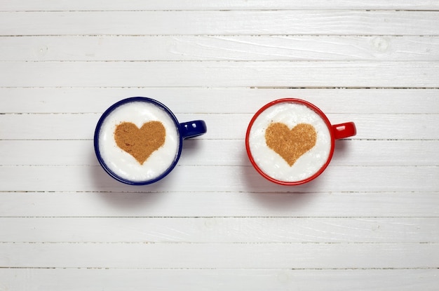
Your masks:
<path fill-rule="evenodd" d="M 248 166 L 243 147 L 243 139 L 185 140 L 179 165 Z M 0 140 L 0 148 L 1 165 L 99 165 L 91 140 Z M 438 140 L 340 140 L 331 165 L 438 166 L 438 148 Z"/>

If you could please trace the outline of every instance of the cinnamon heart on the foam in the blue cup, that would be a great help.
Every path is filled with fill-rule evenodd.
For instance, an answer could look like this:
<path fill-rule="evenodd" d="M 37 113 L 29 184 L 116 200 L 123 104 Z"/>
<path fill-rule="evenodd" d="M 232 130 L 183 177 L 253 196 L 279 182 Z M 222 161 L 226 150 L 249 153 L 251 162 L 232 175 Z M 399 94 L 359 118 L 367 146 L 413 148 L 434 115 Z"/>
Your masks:
<path fill-rule="evenodd" d="M 123 122 L 114 130 L 118 147 L 133 156 L 140 165 L 165 144 L 166 129 L 160 121 L 149 121 L 141 128 L 134 123 Z"/>

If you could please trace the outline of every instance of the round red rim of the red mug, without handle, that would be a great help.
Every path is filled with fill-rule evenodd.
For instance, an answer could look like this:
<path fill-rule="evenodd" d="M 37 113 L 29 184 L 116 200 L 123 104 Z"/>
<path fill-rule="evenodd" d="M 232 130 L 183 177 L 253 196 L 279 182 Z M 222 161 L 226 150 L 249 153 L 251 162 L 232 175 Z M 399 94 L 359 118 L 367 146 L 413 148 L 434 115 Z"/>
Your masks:
<path fill-rule="evenodd" d="M 320 167 L 320 169 L 317 172 L 315 172 L 313 175 L 311 175 L 310 177 L 307 177 L 306 179 L 291 182 L 291 181 L 278 180 L 278 179 L 271 177 L 270 175 L 266 174 L 266 172 L 264 172 L 261 168 L 259 168 L 259 165 L 257 165 L 257 163 L 255 162 L 255 159 L 253 158 L 252 152 L 250 150 L 249 136 L 250 136 L 250 130 L 253 126 L 253 123 L 255 123 L 255 120 L 257 119 L 257 117 L 259 117 L 260 114 L 262 114 L 263 111 L 265 111 L 269 107 L 271 107 L 275 104 L 279 104 L 279 103 L 298 103 L 298 104 L 305 105 L 309 109 L 312 109 L 313 111 L 315 111 L 316 114 L 318 114 L 318 116 L 320 116 L 320 118 L 323 119 L 323 121 L 325 122 L 325 125 L 327 126 L 327 130 L 329 130 L 330 137 L 331 137 L 331 147 L 330 147 L 329 155 L 327 156 L 325 163 Z M 257 170 L 257 172 L 259 172 L 259 174 L 262 175 L 262 177 L 264 177 L 266 180 L 269 180 L 269 181 L 274 182 L 276 184 L 285 185 L 285 186 L 295 186 L 295 185 L 305 184 L 307 182 L 310 182 L 311 180 L 316 179 L 316 177 L 318 177 L 320 174 L 322 174 L 322 172 L 327 168 L 327 165 L 329 165 L 329 163 L 332 159 L 332 156 L 334 154 L 334 148 L 335 148 L 335 137 L 334 137 L 334 133 L 332 131 L 332 125 L 331 125 L 329 119 L 327 119 L 326 114 L 324 114 L 323 111 L 321 111 L 318 107 L 316 107 L 316 105 L 314 105 L 306 100 L 302 100 L 302 99 L 298 99 L 298 98 L 281 98 L 281 99 L 273 100 L 273 101 L 265 104 L 258 111 L 256 111 L 256 113 L 252 116 L 252 119 L 250 120 L 250 123 L 248 124 L 247 131 L 245 133 L 245 150 L 247 151 L 248 158 L 250 159 L 250 163 L 252 163 L 253 168 L 255 168 L 255 170 Z"/>

